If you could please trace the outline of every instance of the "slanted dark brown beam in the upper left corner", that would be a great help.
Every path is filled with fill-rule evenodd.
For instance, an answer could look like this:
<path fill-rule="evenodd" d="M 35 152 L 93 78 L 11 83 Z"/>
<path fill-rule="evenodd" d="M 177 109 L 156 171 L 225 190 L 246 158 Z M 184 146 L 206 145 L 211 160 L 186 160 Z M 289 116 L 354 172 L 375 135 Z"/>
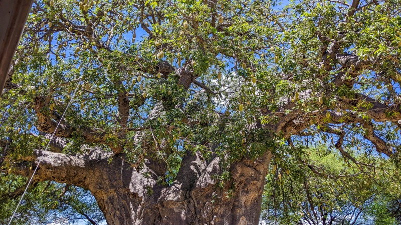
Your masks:
<path fill-rule="evenodd" d="M 0 0 L 0 97 L 33 0 Z"/>

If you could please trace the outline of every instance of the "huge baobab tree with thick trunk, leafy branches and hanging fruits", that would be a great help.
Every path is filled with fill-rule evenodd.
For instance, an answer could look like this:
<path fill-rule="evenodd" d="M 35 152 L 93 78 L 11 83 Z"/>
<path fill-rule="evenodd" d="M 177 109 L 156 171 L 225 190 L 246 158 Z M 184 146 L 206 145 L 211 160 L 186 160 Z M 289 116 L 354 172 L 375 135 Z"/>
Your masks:
<path fill-rule="evenodd" d="M 40 162 L 35 181 L 90 190 L 109 224 L 257 224 L 272 157 L 303 137 L 358 169 L 396 161 L 400 6 L 37 0 L 1 99 L 2 176 Z"/>

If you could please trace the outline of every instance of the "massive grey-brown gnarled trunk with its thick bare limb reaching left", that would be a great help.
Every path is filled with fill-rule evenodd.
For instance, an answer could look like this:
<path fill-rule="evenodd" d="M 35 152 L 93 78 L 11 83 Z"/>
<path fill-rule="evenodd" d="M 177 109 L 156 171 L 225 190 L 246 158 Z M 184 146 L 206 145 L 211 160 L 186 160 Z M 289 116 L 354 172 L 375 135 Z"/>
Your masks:
<path fill-rule="evenodd" d="M 219 183 L 213 178 L 221 172 L 219 157 L 207 163 L 200 154 L 188 152 L 170 185 L 156 181 L 162 171 L 156 162 L 146 160 L 136 169 L 124 154 L 37 151 L 27 159 L 42 158 L 35 175 L 38 181 L 52 179 L 88 188 L 108 224 L 258 224 L 271 156 L 267 151 L 232 164 L 232 178 Z M 19 170 L 25 175 L 31 172 L 24 166 Z"/>

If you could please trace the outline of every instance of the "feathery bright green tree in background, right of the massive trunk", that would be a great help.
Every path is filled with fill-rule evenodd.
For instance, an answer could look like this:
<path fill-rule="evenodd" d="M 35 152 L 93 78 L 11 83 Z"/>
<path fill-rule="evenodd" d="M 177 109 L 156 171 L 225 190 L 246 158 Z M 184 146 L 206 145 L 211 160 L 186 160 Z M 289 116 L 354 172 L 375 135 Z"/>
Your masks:
<path fill-rule="evenodd" d="M 391 162 L 372 157 L 381 168 L 360 170 L 326 146 L 299 149 L 298 156 L 272 163 L 262 203 L 266 224 L 400 223 L 399 192 L 393 188 L 399 185 L 398 169 Z M 347 151 L 358 160 L 365 157 Z"/>

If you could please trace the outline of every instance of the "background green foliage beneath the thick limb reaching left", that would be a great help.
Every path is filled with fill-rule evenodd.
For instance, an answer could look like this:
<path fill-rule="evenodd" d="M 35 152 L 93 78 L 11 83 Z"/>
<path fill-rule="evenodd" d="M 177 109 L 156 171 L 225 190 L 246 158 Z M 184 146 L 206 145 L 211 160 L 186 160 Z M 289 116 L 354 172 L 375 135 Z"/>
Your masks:
<path fill-rule="evenodd" d="M 0 223 L 8 224 L 21 198 L 27 179 L 2 176 L 0 183 Z M 91 193 L 74 185 L 54 181 L 34 182 L 12 224 L 100 224 L 104 221 Z"/>

